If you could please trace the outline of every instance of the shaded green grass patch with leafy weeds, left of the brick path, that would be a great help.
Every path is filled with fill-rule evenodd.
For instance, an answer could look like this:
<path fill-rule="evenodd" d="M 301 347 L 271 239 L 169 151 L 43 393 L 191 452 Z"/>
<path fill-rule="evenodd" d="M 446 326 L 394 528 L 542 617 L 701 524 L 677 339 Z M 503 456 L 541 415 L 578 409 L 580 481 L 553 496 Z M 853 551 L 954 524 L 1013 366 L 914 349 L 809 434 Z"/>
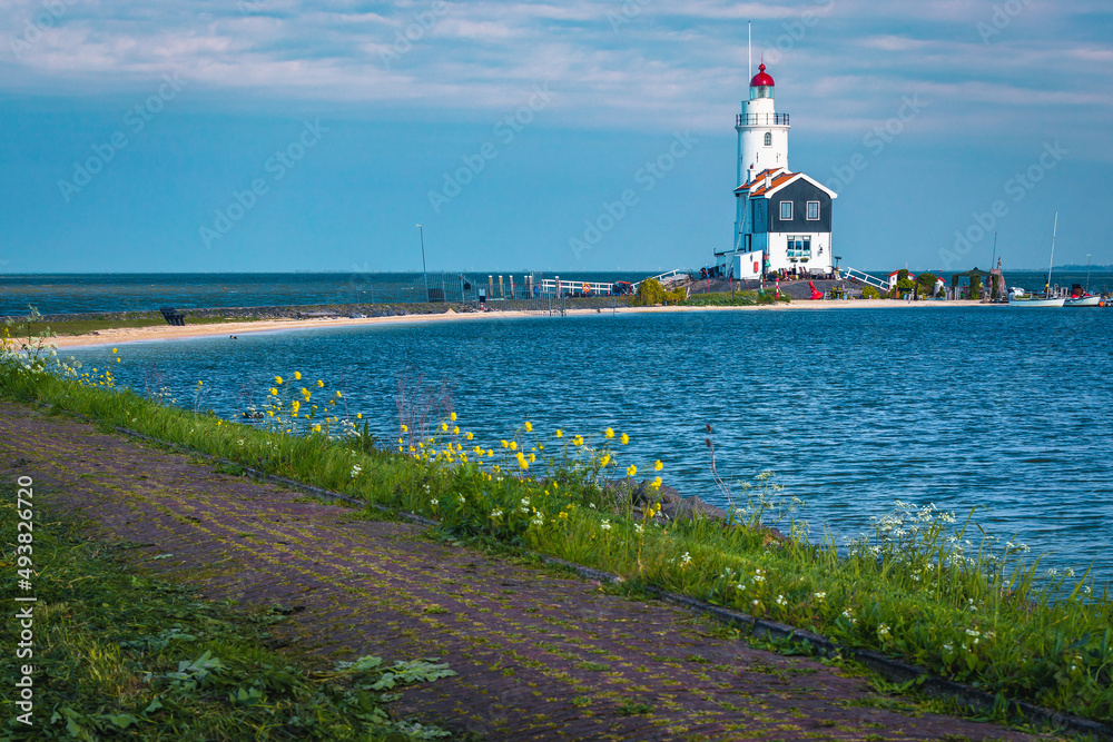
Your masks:
<path fill-rule="evenodd" d="M 17 543 L 14 491 L 0 488 L 0 534 Z M 10 712 L 6 739 L 408 740 L 440 730 L 393 722 L 384 691 L 453 674 L 426 662 L 384 666 L 377 657 L 322 669 L 266 647 L 280 610 L 248 614 L 154 580 L 80 527 L 33 523 L 33 726 Z M 10 564 L 14 556 L 7 552 Z M 14 567 L 3 572 L 17 591 Z M 13 603 L 17 607 L 24 604 Z M 17 622 L 0 622 L 16 647 Z M 12 650 L 13 651 L 13 650 Z M 17 663 L 0 671 L 0 700 L 16 706 Z"/>

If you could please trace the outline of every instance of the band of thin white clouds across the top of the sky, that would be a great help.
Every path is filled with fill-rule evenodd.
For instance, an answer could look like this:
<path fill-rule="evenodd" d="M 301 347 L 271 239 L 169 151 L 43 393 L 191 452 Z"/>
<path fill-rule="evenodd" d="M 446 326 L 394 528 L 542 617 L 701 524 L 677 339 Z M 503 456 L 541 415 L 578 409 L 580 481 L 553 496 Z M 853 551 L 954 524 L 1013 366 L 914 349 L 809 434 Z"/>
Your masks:
<path fill-rule="evenodd" d="M 719 129 L 746 95 L 752 19 L 779 102 L 817 132 L 885 120 L 915 91 L 934 106 L 925 130 L 946 121 L 991 138 L 1002 120 L 1038 130 L 1062 110 L 1097 130 L 1113 109 L 1113 48 L 1062 40 L 1092 23 L 1076 16 L 1107 18 L 1093 0 L 1052 14 L 1033 3 L 988 43 L 976 23 L 992 7 L 962 0 L 72 2 L 31 42 L 27 24 L 42 8 L 19 0 L 0 13 L 13 52 L 0 67 L 4 89 L 142 89 L 175 70 L 195 90 L 484 115 L 549 80 L 560 91 L 552 116 L 565 125 Z"/>

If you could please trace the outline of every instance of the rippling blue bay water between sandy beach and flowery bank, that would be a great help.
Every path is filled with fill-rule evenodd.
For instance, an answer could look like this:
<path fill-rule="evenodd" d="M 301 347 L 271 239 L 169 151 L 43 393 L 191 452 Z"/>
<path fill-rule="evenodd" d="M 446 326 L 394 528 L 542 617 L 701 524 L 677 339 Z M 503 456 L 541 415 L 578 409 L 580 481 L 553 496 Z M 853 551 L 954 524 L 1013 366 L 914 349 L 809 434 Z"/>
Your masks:
<path fill-rule="evenodd" d="M 395 385 L 414 365 L 455 384 L 484 439 L 607 426 L 623 463 L 667 465 L 684 494 L 722 504 L 720 472 L 771 469 L 806 501 L 812 535 L 857 534 L 897 498 L 961 517 L 1045 564 L 1113 577 L 1113 313 L 994 308 L 610 314 L 380 325 L 121 347 L 121 383 L 204 379 L 223 415 L 262 400 L 274 374 L 324 378 L 353 412 L 396 432 Z M 105 349 L 79 355 L 93 362 Z"/>

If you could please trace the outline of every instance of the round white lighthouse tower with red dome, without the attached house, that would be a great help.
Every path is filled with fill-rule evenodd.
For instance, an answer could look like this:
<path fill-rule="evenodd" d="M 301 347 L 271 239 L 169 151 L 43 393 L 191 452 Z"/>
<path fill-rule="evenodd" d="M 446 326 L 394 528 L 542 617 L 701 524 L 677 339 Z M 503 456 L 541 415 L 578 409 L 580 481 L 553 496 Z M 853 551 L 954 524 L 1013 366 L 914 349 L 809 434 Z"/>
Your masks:
<path fill-rule="evenodd" d="M 742 101 L 742 112 L 735 119 L 738 132 L 738 184 L 754 180 L 762 170 L 788 169 L 788 113 L 778 113 L 774 102 L 772 77 L 762 63 L 750 80 L 750 99 Z M 735 245 L 746 228 L 747 199 L 738 199 L 735 219 Z"/>

